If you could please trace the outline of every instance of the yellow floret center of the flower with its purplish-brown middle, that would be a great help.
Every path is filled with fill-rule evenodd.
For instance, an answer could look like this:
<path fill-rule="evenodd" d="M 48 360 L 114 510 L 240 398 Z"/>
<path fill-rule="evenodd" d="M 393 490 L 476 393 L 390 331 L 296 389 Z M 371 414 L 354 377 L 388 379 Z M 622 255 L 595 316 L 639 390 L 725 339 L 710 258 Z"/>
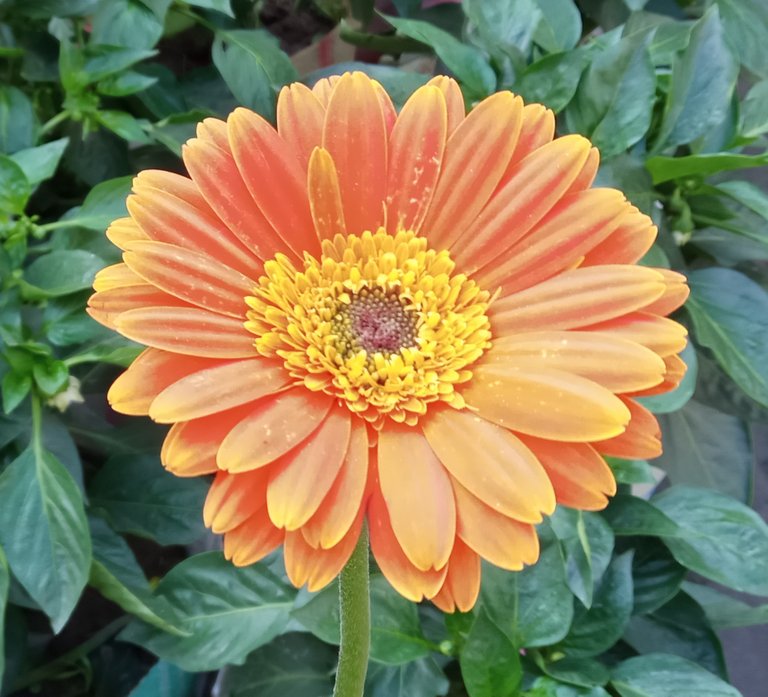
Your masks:
<path fill-rule="evenodd" d="M 386 416 L 415 424 L 430 403 L 464 406 L 456 386 L 491 345 L 489 294 L 454 270 L 412 232 L 336 235 L 301 269 L 283 255 L 266 262 L 245 326 L 310 390 L 376 427 Z"/>

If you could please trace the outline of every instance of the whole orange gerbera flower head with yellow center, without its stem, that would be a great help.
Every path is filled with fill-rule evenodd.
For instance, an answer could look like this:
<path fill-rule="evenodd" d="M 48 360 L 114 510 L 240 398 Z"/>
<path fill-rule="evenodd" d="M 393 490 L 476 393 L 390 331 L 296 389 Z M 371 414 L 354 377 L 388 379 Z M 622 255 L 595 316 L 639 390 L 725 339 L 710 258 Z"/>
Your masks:
<path fill-rule="evenodd" d="M 141 173 L 90 312 L 149 348 L 112 406 L 173 424 L 162 460 L 215 473 L 205 521 L 246 565 L 284 545 L 316 590 L 364 518 L 413 600 L 468 610 L 480 558 L 520 569 L 555 503 L 600 509 L 603 456 L 660 453 L 634 399 L 672 389 L 684 278 L 597 151 L 501 92 L 438 77 L 397 114 L 361 73 L 283 89 Z"/>

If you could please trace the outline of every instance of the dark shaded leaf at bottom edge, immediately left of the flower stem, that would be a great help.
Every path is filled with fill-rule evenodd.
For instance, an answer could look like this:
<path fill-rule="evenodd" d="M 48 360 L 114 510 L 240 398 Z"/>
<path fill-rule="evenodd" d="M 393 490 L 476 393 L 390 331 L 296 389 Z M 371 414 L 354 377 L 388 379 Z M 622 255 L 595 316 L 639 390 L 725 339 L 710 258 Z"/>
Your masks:
<path fill-rule="evenodd" d="M 284 634 L 254 651 L 244 665 L 225 668 L 218 694 L 329 697 L 336 660 L 337 651 L 314 637 Z"/>

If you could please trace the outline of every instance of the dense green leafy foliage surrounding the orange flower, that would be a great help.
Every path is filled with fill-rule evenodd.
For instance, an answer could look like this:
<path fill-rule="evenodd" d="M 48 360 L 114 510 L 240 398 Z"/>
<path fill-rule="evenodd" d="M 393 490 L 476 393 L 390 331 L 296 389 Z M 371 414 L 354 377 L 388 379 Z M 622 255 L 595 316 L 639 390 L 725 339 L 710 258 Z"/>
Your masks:
<path fill-rule="evenodd" d="M 768 423 L 768 195 L 746 178 L 768 164 L 768 6 L 316 0 L 286 25 L 279 4 L 0 0 L 0 694 L 329 695 L 335 587 L 296 592 L 279 559 L 236 569 L 205 551 L 206 483 L 166 473 L 162 430 L 105 402 L 138 347 L 83 308 L 118 259 L 103 233 L 130 175 L 182 171 L 201 118 L 238 103 L 271 118 L 286 82 L 351 67 L 402 104 L 428 79 L 414 68 L 434 67 L 468 104 L 511 89 L 593 140 L 598 183 L 659 225 L 648 263 L 689 274 L 692 342 L 680 388 L 647 400 L 665 455 L 613 461 L 608 509 L 559 509 L 541 561 L 487 568 L 472 613 L 373 578 L 367 694 L 737 695 L 717 631 L 768 621 L 765 601 L 721 590 L 768 596 L 768 527 L 749 508 L 750 428 Z M 338 22 L 379 63 L 300 74 L 284 49 Z M 660 473 L 672 486 L 633 494 Z"/>

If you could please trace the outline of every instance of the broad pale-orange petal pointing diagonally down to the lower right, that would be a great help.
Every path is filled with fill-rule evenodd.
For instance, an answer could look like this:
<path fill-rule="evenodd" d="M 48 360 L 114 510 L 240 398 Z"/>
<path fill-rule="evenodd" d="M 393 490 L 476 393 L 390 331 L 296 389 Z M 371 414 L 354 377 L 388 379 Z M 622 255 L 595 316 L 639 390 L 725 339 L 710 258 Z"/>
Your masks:
<path fill-rule="evenodd" d="M 424 435 L 445 468 L 481 501 L 505 516 L 539 523 L 555 496 L 533 453 L 507 429 L 468 410 L 433 409 Z"/>

